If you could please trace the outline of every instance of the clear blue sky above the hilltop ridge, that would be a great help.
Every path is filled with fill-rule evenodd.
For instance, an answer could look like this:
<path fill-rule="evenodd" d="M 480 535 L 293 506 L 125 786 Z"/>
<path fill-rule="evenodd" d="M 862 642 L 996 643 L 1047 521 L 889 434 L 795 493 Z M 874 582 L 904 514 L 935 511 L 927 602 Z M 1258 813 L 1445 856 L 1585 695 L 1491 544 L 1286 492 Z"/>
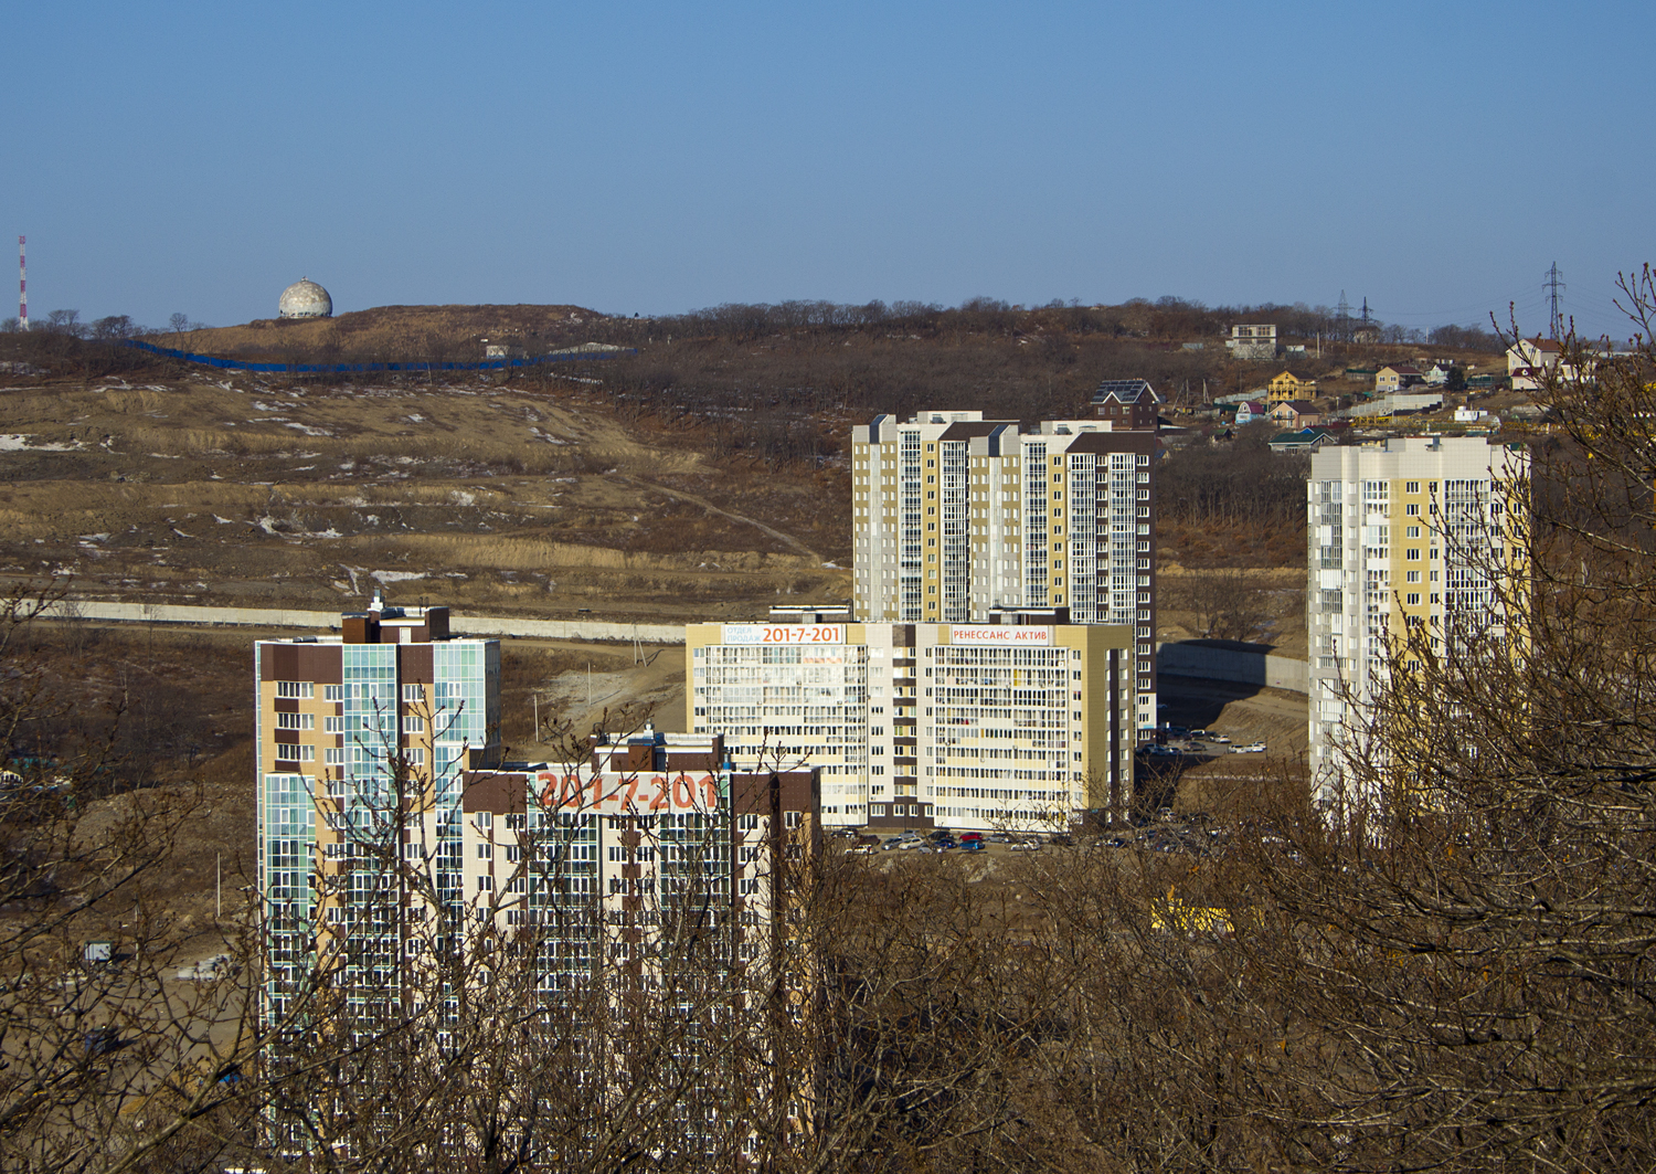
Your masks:
<path fill-rule="evenodd" d="M 0 28 L 0 240 L 28 233 L 36 318 L 229 325 L 308 275 L 336 311 L 1343 288 L 1530 330 L 1557 260 L 1620 336 L 1615 277 L 1656 260 L 1649 0 L 93 0 Z"/>

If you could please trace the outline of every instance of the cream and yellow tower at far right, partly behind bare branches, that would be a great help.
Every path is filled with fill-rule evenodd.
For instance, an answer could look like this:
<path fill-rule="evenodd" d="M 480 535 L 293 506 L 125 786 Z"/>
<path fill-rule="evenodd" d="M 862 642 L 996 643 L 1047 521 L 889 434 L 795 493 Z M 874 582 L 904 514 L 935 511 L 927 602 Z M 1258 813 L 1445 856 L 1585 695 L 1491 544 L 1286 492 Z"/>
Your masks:
<path fill-rule="evenodd" d="M 1312 457 L 1310 767 L 1323 803 L 1341 793 L 1341 743 L 1363 737 L 1365 707 L 1411 634 L 1452 652 L 1457 633 L 1505 626 L 1497 576 L 1522 558 L 1512 487 L 1527 470 L 1519 449 L 1441 435 Z"/>

